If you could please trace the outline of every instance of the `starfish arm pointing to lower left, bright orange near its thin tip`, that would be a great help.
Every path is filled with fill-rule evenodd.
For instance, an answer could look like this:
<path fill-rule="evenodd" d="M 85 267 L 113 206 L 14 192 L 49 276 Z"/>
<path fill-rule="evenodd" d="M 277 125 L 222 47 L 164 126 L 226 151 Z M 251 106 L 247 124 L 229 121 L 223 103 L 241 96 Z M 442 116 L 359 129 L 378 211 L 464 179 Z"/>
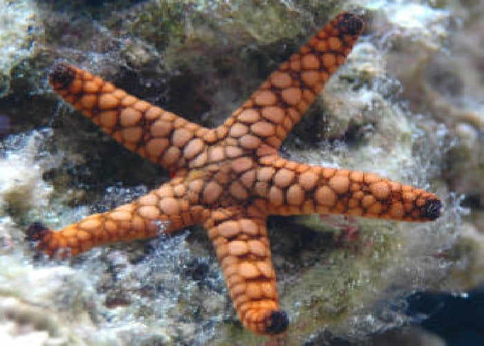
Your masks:
<path fill-rule="evenodd" d="M 133 203 L 109 212 L 89 215 L 82 221 L 53 231 L 39 222 L 28 228 L 26 239 L 37 242 L 37 249 L 53 257 L 75 256 L 95 246 L 113 242 L 155 237 L 173 233 L 185 226 L 201 223 L 210 212 L 190 203 L 189 190 L 184 183 L 163 184 Z"/>

